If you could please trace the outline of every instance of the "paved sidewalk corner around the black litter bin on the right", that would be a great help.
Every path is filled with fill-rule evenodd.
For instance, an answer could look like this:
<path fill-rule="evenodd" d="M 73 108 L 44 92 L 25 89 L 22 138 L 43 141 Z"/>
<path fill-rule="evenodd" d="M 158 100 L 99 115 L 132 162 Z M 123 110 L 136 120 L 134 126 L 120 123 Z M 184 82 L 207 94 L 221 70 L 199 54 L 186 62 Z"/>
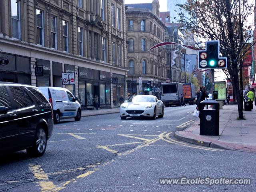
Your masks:
<path fill-rule="evenodd" d="M 186 142 L 224 148 L 256 152 L 256 106 L 252 111 L 243 111 L 246 120 L 238 118 L 237 105 L 225 105 L 220 110 L 220 136 L 200 136 L 199 118 L 183 131 L 176 131 L 174 136 Z"/>

